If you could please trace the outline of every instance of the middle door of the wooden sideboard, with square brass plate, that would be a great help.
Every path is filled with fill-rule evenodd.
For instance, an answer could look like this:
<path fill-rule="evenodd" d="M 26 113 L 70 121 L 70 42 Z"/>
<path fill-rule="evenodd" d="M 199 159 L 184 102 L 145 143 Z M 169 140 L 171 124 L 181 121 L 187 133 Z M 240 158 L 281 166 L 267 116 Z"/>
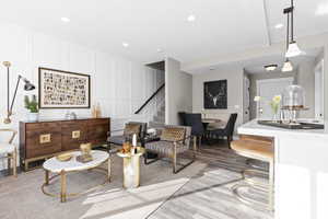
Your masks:
<path fill-rule="evenodd" d="M 62 142 L 61 148 L 66 150 L 79 149 L 81 143 L 86 142 L 87 122 L 68 120 L 61 122 Z"/>

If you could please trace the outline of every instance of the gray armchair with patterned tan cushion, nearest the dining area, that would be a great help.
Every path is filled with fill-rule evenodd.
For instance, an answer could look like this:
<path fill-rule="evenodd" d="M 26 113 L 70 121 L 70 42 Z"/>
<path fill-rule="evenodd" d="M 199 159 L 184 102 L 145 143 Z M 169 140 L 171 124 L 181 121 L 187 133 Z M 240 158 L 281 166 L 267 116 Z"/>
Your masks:
<path fill-rule="evenodd" d="M 148 162 L 148 155 L 144 155 L 144 163 L 153 163 L 161 158 L 169 158 L 173 163 L 173 173 L 178 173 L 190 165 L 196 159 L 196 141 L 190 150 L 191 127 L 188 126 L 164 126 L 161 140 L 145 143 L 147 153 L 157 153 L 159 158 Z M 188 163 L 178 163 L 177 159 L 183 153 L 192 153 Z M 180 168 L 178 168 L 180 165 Z"/>

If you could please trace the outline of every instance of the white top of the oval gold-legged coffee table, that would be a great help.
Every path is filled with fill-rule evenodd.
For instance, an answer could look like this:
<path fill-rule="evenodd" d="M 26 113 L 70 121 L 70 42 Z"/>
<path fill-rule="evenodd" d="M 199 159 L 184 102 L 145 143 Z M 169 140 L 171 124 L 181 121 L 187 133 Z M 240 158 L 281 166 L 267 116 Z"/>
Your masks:
<path fill-rule="evenodd" d="M 81 163 L 77 161 L 77 157 L 81 155 L 81 151 L 73 151 L 71 154 L 73 158 L 69 161 L 59 161 L 56 157 L 54 157 L 45 161 L 43 166 L 45 170 L 52 173 L 60 173 L 62 170 L 66 172 L 83 171 L 96 168 L 109 158 L 109 154 L 105 151 L 92 150 L 91 155 L 93 160 L 86 163 Z"/>

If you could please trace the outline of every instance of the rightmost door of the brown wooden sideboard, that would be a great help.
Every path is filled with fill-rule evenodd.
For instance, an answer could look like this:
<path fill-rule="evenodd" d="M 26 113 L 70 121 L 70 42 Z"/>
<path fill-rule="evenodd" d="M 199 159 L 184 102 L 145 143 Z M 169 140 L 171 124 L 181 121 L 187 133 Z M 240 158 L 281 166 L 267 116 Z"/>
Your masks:
<path fill-rule="evenodd" d="M 107 140 L 109 118 L 90 119 L 87 124 L 87 141 L 92 145 L 102 145 Z"/>

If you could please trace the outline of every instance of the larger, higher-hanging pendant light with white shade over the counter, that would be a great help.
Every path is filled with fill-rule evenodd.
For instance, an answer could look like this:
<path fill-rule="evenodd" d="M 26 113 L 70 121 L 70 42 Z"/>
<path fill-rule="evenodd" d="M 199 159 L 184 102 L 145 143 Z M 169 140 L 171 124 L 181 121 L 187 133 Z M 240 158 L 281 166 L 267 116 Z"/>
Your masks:
<path fill-rule="evenodd" d="M 294 0 L 291 0 L 291 7 L 283 10 L 284 13 L 291 14 L 291 41 L 288 41 L 289 47 L 285 53 L 286 58 L 304 55 L 294 39 Z"/>

